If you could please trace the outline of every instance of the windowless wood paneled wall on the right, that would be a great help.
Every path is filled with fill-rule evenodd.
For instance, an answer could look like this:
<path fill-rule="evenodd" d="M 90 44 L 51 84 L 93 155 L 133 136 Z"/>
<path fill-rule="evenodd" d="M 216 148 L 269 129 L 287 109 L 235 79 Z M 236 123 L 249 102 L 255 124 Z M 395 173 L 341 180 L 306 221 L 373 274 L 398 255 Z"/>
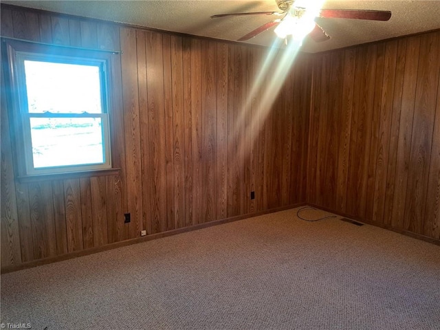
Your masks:
<path fill-rule="evenodd" d="M 307 201 L 440 239 L 440 32 L 315 56 Z"/>

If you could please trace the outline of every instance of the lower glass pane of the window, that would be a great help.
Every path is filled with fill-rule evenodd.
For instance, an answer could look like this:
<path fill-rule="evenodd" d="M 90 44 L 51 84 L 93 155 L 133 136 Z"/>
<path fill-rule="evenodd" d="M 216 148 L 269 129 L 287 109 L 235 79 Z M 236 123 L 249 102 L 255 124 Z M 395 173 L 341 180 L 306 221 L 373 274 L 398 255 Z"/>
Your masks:
<path fill-rule="evenodd" d="M 104 163 L 102 118 L 30 118 L 34 168 Z"/>

